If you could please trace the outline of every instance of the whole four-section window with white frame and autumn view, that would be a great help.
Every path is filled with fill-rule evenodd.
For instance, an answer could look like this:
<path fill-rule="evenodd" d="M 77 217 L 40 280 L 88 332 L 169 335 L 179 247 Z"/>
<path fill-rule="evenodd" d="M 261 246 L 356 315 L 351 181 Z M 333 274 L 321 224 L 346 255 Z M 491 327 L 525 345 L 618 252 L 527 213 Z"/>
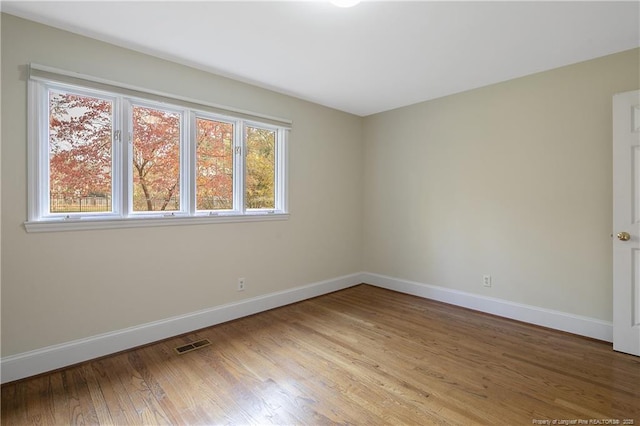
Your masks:
<path fill-rule="evenodd" d="M 28 231 L 287 217 L 286 123 L 45 71 L 29 80 Z"/>

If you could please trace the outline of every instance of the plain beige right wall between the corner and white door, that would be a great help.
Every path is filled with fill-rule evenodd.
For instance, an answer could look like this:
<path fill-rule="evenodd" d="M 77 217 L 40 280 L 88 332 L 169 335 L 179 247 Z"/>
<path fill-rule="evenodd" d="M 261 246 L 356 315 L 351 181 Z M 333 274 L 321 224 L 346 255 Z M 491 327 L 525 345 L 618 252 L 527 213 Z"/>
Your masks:
<path fill-rule="evenodd" d="M 611 321 L 611 98 L 639 52 L 367 117 L 363 269 Z"/>

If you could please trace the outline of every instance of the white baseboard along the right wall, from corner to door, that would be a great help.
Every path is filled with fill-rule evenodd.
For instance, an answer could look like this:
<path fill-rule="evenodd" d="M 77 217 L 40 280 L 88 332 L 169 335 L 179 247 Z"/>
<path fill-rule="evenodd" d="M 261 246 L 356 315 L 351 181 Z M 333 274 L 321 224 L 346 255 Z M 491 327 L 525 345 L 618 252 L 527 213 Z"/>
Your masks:
<path fill-rule="evenodd" d="M 613 323 L 537 306 L 509 302 L 463 291 L 437 287 L 384 275 L 363 273 L 362 282 L 426 299 L 437 300 L 476 311 L 530 324 L 566 331 L 593 339 L 613 341 Z"/>

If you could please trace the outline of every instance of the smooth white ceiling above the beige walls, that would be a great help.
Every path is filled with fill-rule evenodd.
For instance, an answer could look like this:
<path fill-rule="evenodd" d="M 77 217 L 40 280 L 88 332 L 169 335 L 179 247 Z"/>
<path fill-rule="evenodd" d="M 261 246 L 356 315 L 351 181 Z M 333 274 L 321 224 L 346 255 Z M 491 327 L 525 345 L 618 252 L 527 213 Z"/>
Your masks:
<path fill-rule="evenodd" d="M 20 1 L 3 12 L 356 115 L 640 46 L 640 1 Z M 640 77 L 639 77 L 640 78 Z"/>

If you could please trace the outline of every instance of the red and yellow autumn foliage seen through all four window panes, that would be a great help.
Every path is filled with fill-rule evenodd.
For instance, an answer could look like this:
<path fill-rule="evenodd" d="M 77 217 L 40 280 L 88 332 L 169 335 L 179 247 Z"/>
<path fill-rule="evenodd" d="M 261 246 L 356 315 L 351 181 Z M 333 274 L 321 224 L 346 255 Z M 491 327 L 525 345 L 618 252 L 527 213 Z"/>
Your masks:
<path fill-rule="evenodd" d="M 180 140 L 177 112 L 132 107 L 133 211 L 180 210 Z M 51 91 L 49 96 L 49 189 L 57 212 L 78 210 L 77 200 L 110 200 L 113 182 L 113 101 Z M 248 208 L 274 204 L 275 132 L 246 128 Z M 123 138 L 124 147 L 129 138 Z M 196 208 L 232 209 L 234 124 L 196 120 Z M 237 171 L 236 171 L 237 173 Z M 126 180 L 125 180 L 126 184 Z M 62 200 L 60 202 L 60 200 Z M 109 203 L 102 210 L 109 211 Z M 184 206 L 183 206 L 184 207 Z M 52 211 L 53 204 L 52 204 Z"/>

